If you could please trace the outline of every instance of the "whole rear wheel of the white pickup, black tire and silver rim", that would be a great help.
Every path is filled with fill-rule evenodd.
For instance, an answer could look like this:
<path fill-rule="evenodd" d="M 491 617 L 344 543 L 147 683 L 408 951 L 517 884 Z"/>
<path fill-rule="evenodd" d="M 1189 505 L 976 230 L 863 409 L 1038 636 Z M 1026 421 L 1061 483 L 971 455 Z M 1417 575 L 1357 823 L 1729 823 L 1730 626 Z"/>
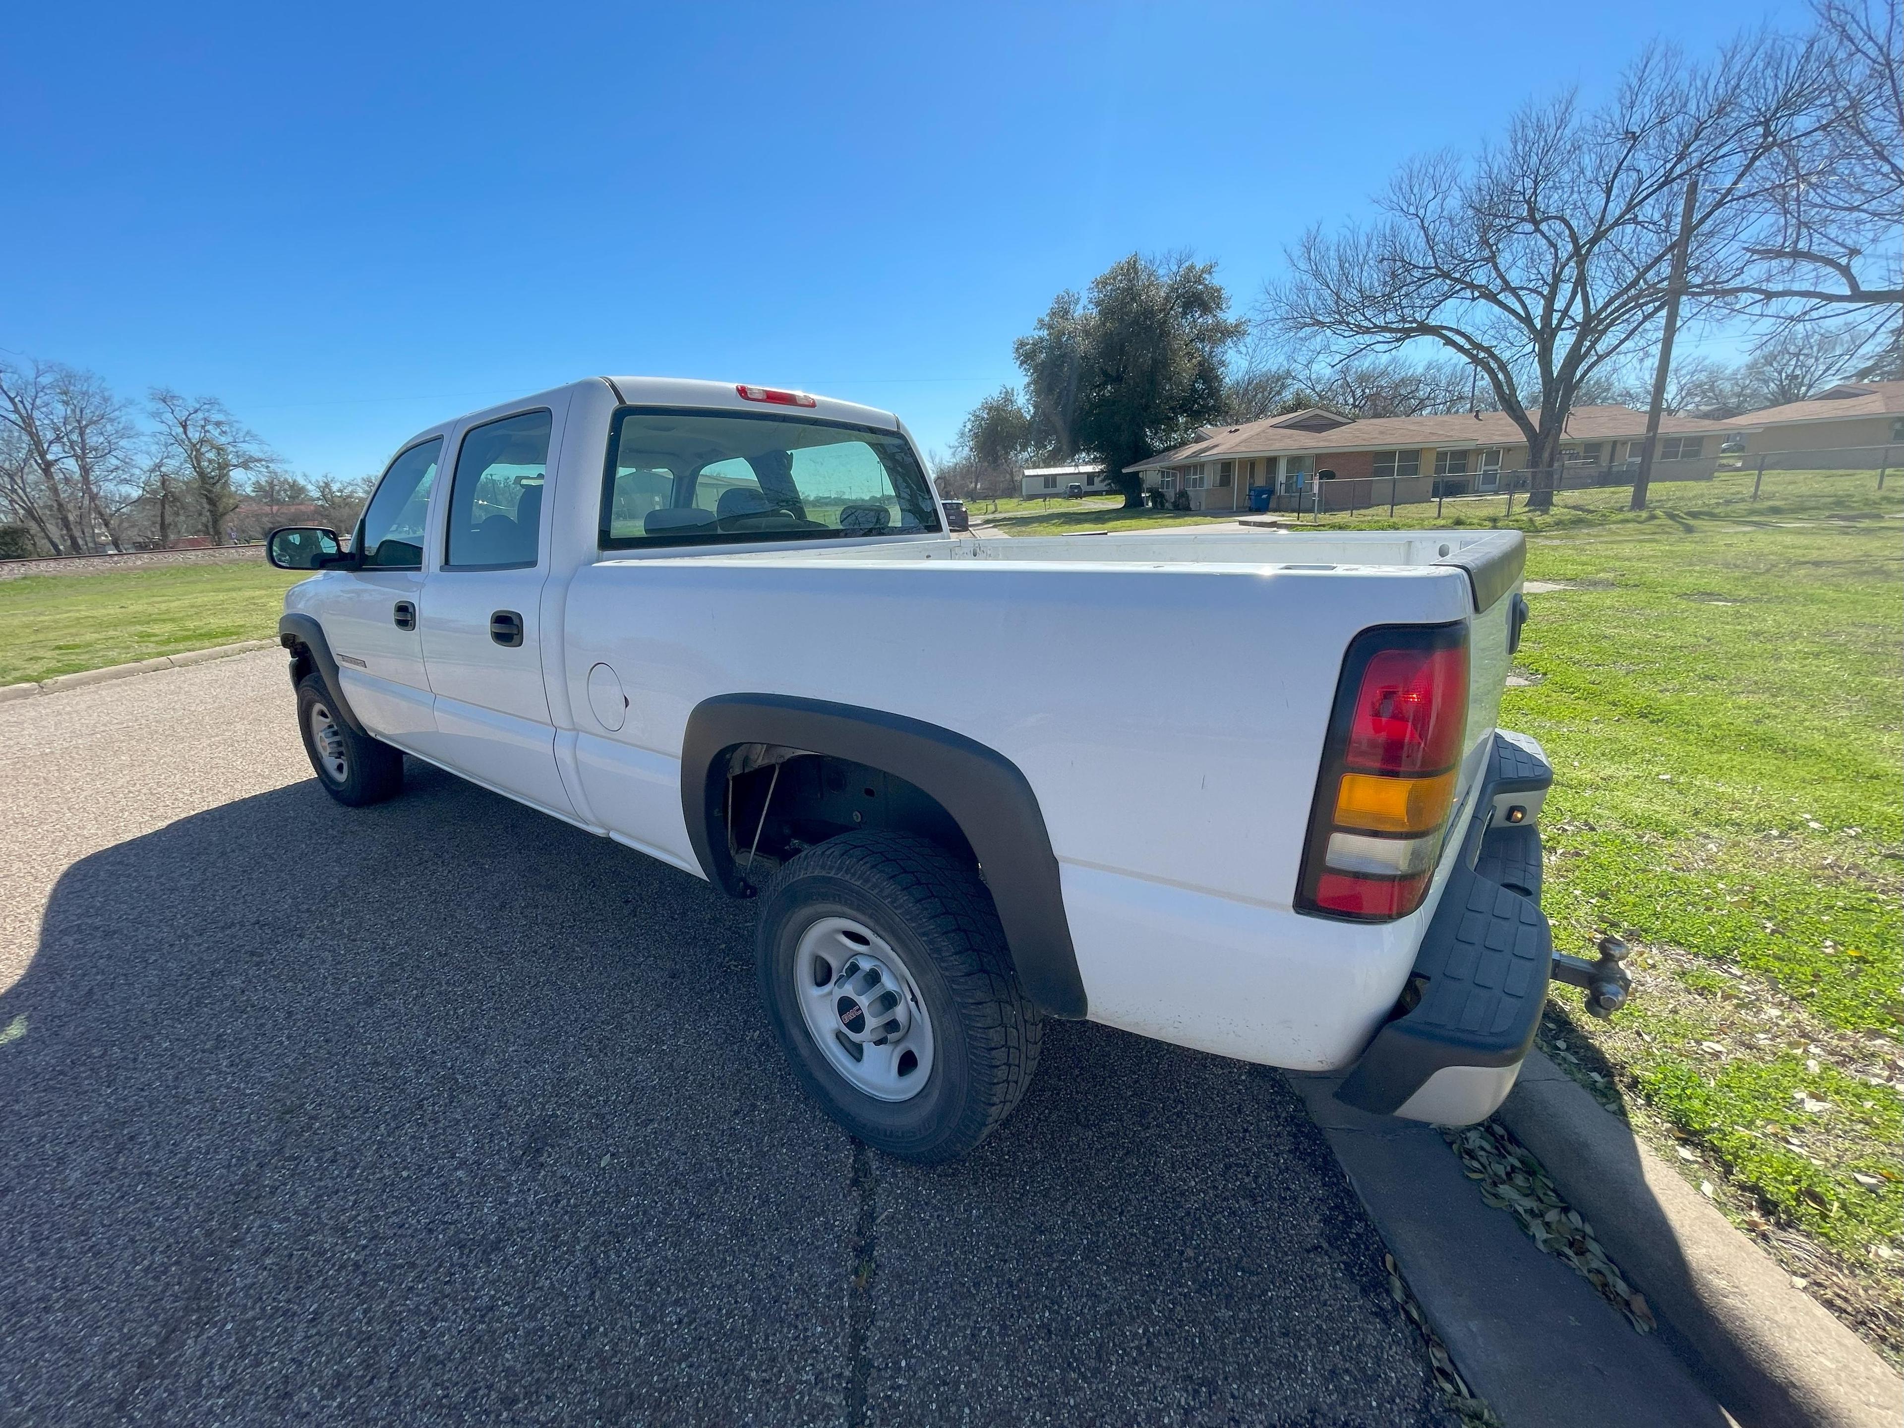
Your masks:
<path fill-rule="evenodd" d="M 1040 1019 L 973 868 L 912 834 L 845 834 L 760 901 L 762 1000 L 828 1116 L 920 1161 L 956 1160 L 1005 1121 Z"/>

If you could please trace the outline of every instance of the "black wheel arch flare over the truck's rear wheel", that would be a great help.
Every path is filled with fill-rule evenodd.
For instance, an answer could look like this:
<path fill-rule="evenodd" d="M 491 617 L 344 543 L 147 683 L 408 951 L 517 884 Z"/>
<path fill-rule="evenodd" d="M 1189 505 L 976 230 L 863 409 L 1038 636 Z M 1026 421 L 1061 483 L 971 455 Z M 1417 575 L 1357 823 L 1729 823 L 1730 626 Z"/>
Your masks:
<path fill-rule="evenodd" d="M 718 695 L 695 704 L 682 739 L 682 815 L 708 878 L 746 893 L 722 828 L 727 752 L 781 744 L 847 758 L 906 779 L 952 815 L 984 868 L 986 887 L 1024 994 L 1053 1017 L 1083 1017 L 1059 861 L 1038 796 L 1019 765 L 937 724 L 792 695 Z"/>

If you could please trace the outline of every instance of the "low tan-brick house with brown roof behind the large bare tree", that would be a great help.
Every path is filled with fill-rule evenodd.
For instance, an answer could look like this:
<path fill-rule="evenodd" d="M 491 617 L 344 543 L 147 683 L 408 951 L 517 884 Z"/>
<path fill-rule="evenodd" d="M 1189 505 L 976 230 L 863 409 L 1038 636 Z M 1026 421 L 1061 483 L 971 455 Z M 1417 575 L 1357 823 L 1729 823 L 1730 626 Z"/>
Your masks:
<path fill-rule="evenodd" d="M 1637 463 L 1645 430 L 1647 413 L 1634 407 L 1575 407 L 1561 457 L 1582 478 L 1590 470 L 1620 472 Z M 1655 480 L 1708 480 L 1719 444 L 1735 430 L 1702 417 L 1664 417 Z M 1500 411 L 1358 421 L 1306 407 L 1240 426 L 1205 426 L 1198 440 L 1125 470 L 1140 472 L 1150 489 L 1186 491 L 1196 510 L 1245 510 L 1253 487 L 1268 489 L 1276 508 L 1289 508 L 1318 482 L 1342 482 L 1340 505 L 1373 505 L 1401 482 L 1409 482 L 1403 501 L 1525 489 L 1527 442 Z M 1333 510 L 1339 501 L 1327 505 Z"/>

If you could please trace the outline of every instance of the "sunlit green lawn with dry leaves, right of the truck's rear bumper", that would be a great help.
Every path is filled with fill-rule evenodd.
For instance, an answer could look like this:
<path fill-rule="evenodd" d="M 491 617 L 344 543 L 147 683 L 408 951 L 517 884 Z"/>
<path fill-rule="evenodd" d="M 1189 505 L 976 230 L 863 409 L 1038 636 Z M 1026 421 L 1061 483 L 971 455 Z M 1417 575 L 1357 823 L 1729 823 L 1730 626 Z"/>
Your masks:
<path fill-rule="evenodd" d="M 1557 992 L 1548 1041 L 1898 1352 L 1904 531 L 1691 526 L 1529 552 L 1567 586 L 1502 708 L 1556 767 L 1544 902 L 1637 948 L 1632 1009 Z"/>

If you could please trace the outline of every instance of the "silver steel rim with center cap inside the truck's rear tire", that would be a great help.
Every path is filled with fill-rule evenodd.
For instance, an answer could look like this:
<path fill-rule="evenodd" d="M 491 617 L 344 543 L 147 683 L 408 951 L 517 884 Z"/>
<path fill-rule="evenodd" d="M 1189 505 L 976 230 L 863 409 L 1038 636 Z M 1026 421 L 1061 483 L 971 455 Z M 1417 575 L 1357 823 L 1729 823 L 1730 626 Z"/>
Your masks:
<path fill-rule="evenodd" d="M 794 952 L 800 1015 L 826 1062 L 876 1101 L 910 1101 L 931 1076 L 933 1022 L 893 946 L 853 918 L 821 918 Z"/>

